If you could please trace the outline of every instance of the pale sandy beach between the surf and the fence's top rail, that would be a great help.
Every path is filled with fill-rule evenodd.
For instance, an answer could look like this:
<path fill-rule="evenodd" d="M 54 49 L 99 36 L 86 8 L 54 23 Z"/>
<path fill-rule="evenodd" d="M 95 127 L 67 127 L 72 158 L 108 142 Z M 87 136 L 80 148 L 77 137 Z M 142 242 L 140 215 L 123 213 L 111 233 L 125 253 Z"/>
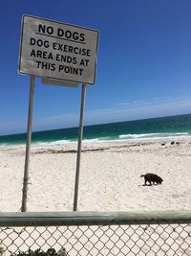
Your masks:
<path fill-rule="evenodd" d="M 79 211 L 191 209 L 191 139 L 82 145 Z M 0 147 L 1 212 L 21 208 L 25 146 Z M 76 143 L 32 145 L 28 211 L 72 211 Z M 161 185 L 143 186 L 154 173 Z"/>

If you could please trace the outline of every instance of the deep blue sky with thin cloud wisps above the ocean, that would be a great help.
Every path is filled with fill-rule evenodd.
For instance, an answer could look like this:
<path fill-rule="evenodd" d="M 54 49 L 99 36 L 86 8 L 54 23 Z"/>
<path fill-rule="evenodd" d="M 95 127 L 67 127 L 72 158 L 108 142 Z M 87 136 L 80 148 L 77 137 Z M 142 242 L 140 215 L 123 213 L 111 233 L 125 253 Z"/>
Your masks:
<path fill-rule="evenodd" d="M 85 125 L 191 113 L 190 0 L 2 0 L 0 135 L 27 129 L 30 77 L 19 75 L 23 14 L 100 32 Z M 35 80 L 32 130 L 76 127 L 81 86 Z"/>

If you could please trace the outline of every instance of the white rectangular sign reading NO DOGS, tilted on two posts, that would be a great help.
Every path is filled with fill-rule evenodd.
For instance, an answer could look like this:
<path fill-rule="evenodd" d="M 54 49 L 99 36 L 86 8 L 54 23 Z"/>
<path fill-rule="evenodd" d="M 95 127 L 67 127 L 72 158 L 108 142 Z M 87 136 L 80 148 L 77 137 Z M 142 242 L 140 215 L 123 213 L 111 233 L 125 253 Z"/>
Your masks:
<path fill-rule="evenodd" d="M 19 73 L 94 84 L 98 31 L 23 16 Z"/>

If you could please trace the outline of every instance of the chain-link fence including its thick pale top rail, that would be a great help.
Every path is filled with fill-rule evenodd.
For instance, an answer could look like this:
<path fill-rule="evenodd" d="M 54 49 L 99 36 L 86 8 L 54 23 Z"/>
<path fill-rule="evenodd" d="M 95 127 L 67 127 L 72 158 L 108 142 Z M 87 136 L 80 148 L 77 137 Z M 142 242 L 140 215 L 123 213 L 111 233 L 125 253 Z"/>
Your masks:
<path fill-rule="evenodd" d="M 6 256 L 37 248 L 68 256 L 191 256 L 191 211 L 1 213 L 0 248 Z"/>

